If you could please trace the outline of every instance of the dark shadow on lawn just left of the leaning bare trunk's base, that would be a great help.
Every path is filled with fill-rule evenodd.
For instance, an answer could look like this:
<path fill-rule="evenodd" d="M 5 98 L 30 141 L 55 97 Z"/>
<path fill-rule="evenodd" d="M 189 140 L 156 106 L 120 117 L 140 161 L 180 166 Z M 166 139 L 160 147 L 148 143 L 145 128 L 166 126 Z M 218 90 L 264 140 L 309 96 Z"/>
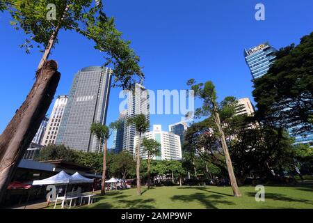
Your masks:
<path fill-rule="evenodd" d="M 171 197 L 171 199 L 173 201 L 184 201 L 184 202 L 199 201 L 205 208 L 208 209 L 217 209 L 216 205 L 220 203 L 234 205 L 232 201 L 223 200 L 223 197 L 225 196 L 218 194 L 207 195 L 204 193 L 195 193 L 190 195 L 175 195 Z"/>

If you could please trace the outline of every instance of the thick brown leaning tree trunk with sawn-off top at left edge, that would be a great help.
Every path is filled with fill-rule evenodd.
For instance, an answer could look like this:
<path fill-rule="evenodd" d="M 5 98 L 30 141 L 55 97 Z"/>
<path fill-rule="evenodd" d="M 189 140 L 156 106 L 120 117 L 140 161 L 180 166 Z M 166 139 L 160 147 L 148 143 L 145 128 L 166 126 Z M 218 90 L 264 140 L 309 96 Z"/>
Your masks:
<path fill-rule="evenodd" d="M 56 61 L 47 61 L 37 71 L 29 95 L 0 136 L 0 203 L 54 98 L 61 77 L 57 69 Z"/>

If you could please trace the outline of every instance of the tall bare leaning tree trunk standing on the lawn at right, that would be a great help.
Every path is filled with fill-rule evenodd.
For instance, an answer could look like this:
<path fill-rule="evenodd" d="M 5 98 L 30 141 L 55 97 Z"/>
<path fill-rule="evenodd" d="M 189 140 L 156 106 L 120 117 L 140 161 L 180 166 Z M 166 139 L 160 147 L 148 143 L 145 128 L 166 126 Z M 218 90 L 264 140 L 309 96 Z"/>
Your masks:
<path fill-rule="evenodd" d="M 218 109 L 216 106 L 214 106 L 214 119 L 215 119 L 216 125 L 218 126 L 218 131 L 220 133 L 220 141 L 222 142 L 222 148 L 223 148 L 223 152 L 225 155 L 227 171 L 228 171 L 228 175 L 230 176 L 230 185 L 232 185 L 232 191 L 234 193 L 234 197 L 241 197 L 241 192 L 239 191 L 239 188 L 236 182 L 236 176 L 234 176 L 234 168 L 232 167 L 232 160 L 230 159 L 230 153 L 228 152 L 225 134 L 224 134 L 222 125 L 220 123 L 220 115 L 218 114 Z"/>

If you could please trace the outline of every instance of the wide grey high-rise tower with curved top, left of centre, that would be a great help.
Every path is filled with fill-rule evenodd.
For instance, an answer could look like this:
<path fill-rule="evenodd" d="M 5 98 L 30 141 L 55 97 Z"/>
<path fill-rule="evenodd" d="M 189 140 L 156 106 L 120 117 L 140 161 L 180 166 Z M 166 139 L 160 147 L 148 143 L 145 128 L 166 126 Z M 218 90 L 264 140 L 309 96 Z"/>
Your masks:
<path fill-rule="evenodd" d="M 111 77 L 111 70 L 100 66 L 90 66 L 77 72 L 56 144 L 80 151 L 102 151 L 99 140 L 90 132 L 90 126 L 92 123 L 106 123 Z"/>

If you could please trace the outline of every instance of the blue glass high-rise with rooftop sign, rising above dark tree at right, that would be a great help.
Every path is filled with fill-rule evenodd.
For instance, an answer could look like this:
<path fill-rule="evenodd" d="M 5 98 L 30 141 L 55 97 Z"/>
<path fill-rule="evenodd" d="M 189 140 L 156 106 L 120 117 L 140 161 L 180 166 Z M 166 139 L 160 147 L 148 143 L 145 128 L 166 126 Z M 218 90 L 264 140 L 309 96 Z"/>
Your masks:
<path fill-rule="evenodd" d="M 271 47 L 269 43 L 264 43 L 257 47 L 244 50 L 246 63 L 250 68 L 253 79 L 262 77 L 267 73 L 268 69 L 275 61 L 275 51 L 276 49 Z"/>

